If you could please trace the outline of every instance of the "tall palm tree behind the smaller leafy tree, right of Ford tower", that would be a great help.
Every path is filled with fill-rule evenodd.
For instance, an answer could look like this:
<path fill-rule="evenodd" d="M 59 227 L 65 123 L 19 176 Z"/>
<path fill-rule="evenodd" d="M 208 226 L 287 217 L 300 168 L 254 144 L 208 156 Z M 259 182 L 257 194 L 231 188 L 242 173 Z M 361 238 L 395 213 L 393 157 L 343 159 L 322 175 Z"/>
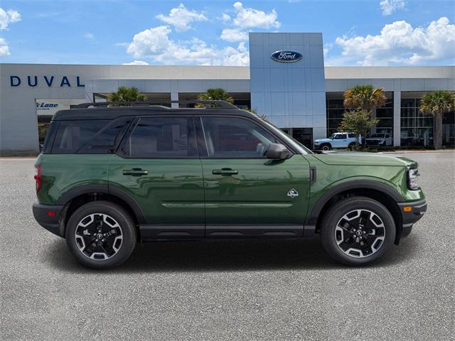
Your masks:
<path fill-rule="evenodd" d="M 382 87 L 373 87 L 373 85 L 355 85 L 350 90 L 344 92 L 344 107 L 352 108 L 355 112 L 367 113 L 369 119 L 376 108 L 382 107 L 387 101 Z M 376 120 L 378 124 L 378 120 Z M 362 146 L 365 147 L 366 136 L 362 136 Z"/>

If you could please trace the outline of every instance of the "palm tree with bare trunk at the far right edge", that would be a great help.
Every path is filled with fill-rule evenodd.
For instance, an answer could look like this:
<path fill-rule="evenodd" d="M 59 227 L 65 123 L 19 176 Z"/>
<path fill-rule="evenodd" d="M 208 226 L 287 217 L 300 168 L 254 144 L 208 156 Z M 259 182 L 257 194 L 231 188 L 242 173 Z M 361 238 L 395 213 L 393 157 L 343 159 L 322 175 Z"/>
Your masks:
<path fill-rule="evenodd" d="M 455 94 L 438 90 L 427 92 L 420 101 L 419 111 L 434 117 L 434 148 L 442 147 L 442 117 L 455 110 Z"/>

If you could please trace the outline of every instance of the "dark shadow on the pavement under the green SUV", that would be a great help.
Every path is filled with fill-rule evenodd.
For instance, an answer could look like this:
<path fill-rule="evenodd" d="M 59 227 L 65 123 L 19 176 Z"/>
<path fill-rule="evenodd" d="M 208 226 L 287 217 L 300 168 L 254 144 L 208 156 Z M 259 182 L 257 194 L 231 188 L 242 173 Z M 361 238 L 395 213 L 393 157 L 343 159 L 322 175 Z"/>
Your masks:
<path fill-rule="evenodd" d="M 402 241 L 401 244 L 405 244 Z M 412 243 L 415 244 L 415 243 Z M 395 266 L 412 258 L 412 247 L 392 247 L 374 266 Z M 78 264 L 63 239 L 55 239 L 43 262 L 71 272 L 94 271 Z M 333 261 L 319 239 L 217 240 L 137 244 L 129 259 L 113 273 L 168 271 L 260 271 L 348 269 Z"/>

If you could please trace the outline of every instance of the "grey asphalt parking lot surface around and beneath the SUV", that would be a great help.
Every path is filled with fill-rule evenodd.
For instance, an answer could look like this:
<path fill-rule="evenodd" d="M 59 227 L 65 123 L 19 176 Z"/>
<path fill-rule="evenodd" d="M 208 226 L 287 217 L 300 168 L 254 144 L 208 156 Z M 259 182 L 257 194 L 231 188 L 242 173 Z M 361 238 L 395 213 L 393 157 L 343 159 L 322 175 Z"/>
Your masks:
<path fill-rule="evenodd" d="M 454 340 L 455 153 L 405 156 L 428 211 L 374 266 L 313 239 L 138 244 L 112 271 L 35 222 L 34 161 L 0 158 L 0 339 Z"/>

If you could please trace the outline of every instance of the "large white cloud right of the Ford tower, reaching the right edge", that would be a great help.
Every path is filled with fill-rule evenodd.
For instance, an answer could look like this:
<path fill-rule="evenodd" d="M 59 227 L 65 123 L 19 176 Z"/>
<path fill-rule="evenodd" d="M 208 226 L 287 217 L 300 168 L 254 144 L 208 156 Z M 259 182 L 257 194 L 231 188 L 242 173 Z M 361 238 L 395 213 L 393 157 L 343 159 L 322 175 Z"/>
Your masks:
<path fill-rule="evenodd" d="M 427 27 L 406 21 L 385 25 L 377 36 L 336 38 L 346 61 L 359 65 L 424 64 L 455 59 L 455 25 L 441 17 Z"/>

